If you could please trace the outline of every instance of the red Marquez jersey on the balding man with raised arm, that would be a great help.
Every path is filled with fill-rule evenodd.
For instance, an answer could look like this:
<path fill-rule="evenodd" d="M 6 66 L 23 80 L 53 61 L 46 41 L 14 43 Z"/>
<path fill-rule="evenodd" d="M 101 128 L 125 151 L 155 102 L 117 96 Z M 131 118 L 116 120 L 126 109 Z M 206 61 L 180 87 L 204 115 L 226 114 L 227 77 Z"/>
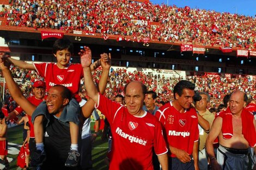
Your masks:
<path fill-rule="evenodd" d="M 99 95 L 99 109 L 111 127 L 112 159 L 109 169 L 153 170 L 152 149 L 156 155 L 168 152 L 162 135 L 161 123 L 145 111 L 135 117 L 124 106 Z"/>

